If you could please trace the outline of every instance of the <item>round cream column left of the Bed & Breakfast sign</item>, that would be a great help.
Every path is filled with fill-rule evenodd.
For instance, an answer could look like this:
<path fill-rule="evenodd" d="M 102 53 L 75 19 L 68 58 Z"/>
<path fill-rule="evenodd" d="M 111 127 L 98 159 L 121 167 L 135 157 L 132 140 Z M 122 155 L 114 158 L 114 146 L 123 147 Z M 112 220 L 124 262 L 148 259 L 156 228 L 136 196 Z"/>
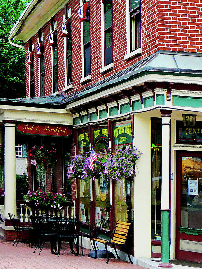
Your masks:
<path fill-rule="evenodd" d="M 8 213 L 16 215 L 16 148 L 15 123 L 5 123 L 5 207 L 4 218 Z"/>

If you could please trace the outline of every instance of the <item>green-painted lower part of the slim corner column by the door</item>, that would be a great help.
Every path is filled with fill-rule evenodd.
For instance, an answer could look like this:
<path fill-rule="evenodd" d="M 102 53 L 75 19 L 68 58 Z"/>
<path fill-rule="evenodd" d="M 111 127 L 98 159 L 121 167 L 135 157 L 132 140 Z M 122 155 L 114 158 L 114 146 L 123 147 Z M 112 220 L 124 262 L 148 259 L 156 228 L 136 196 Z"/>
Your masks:
<path fill-rule="evenodd" d="M 161 262 L 169 262 L 169 211 L 161 211 Z"/>

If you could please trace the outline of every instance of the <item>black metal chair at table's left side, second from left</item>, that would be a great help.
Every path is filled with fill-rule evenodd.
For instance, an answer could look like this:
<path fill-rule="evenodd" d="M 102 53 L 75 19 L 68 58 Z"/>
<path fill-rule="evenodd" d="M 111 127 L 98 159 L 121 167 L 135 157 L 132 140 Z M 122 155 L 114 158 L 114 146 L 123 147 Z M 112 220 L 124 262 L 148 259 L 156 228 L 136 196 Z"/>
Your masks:
<path fill-rule="evenodd" d="M 37 247 L 40 248 L 39 255 L 43 249 L 45 237 L 48 237 L 51 242 L 51 253 L 55 253 L 53 250 L 56 249 L 56 240 L 57 240 L 57 228 L 56 228 L 56 222 L 55 221 L 48 221 L 52 215 L 42 215 L 42 216 L 30 216 L 33 228 L 36 232 L 37 236 L 37 246 L 33 253 L 35 253 Z M 42 240 L 41 240 L 42 239 Z"/>

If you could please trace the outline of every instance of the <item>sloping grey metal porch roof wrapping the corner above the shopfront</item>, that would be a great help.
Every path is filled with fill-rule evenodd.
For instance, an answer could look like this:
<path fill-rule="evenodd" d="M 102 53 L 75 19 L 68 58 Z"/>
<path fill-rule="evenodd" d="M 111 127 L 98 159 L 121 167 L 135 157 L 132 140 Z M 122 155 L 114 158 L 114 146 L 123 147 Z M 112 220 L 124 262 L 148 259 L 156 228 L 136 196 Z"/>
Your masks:
<path fill-rule="evenodd" d="M 97 92 L 107 90 L 108 88 L 149 73 L 202 77 L 202 54 L 178 51 L 157 51 L 133 65 L 69 95 L 62 102 L 67 105 L 84 96 L 87 97 Z"/>

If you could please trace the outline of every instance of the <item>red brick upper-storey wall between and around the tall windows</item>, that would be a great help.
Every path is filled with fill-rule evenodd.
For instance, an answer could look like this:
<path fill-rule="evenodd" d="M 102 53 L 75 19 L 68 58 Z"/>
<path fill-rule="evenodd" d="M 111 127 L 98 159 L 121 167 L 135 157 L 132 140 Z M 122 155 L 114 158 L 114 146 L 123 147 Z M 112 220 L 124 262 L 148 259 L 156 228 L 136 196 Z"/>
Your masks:
<path fill-rule="evenodd" d="M 127 66 L 133 64 L 159 49 L 170 51 L 202 52 L 201 7 L 199 0 L 142 0 L 141 3 L 141 37 L 142 55 L 129 61 L 124 60 L 126 54 L 126 0 L 113 1 L 113 62 L 114 68 L 105 74 L 100 74 L 101 69 L 101 1 L 90 1 L 90 32 L 91 32 L 91 82 L 81 84 L 81 22 L 78 16 L 79 1 L 70 1 L 72 9 L 72 76 L 73 89 L 78 91 L 89 84 L 98 82 Z M 54 19 L 57 21 L 58 41 L 58 91 L 65 86 L 64 71 L 64 39 L 62 37 L 62 17 L 64 9 L 60 10 Z M 53 14 L 54 15 L 54 14 Z M 42 27 L 44 33 L 44 59 L 45 59 L 45 95 L 51 94 L 51 47 L 48 36 L 51 22 Z M 38 33 L 32 38 L 34 44 L 35 64 L 35 96 L 39 95 L 39 59 L 36 56 Z M 25 44 L 27 57 L 28 44 Z M 26 61 L 26 89 L 29 96 L 29 74 Z"/>

